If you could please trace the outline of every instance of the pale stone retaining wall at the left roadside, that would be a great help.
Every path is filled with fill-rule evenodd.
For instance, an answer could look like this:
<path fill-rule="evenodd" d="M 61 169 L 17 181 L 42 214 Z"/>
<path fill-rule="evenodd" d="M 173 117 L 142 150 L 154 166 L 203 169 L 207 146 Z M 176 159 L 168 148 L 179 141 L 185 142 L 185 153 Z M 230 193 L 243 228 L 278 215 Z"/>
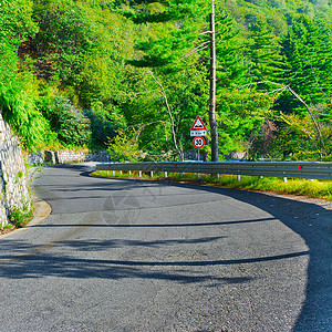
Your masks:
<path fill-rule="evenodd" d="M 13 210 L 30 206 L 29 173 L 18 137 L 0 114 L 0 226 Z"/>

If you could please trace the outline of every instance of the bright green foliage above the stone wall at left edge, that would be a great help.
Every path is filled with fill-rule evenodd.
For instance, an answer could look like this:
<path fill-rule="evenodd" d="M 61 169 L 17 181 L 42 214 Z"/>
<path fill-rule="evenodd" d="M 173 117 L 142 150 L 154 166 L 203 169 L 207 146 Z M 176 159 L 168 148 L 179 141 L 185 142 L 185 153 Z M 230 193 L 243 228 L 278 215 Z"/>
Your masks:
<path fill-rule="evenodd" d="M 33 145 L 41 143 L 48 124 L 35 106 L 35 82 L 21 71 L 17 50 L 22 39 L 34 35 L 32 1 L 0 1 L 0 110 L 18 134 Z"/>

